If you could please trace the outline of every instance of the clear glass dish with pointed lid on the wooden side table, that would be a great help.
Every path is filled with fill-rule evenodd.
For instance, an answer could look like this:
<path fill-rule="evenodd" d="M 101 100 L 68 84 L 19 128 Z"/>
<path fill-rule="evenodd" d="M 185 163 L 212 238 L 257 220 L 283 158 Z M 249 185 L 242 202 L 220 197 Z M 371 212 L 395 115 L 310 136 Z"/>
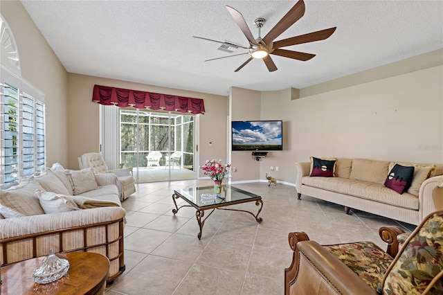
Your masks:
<path fill-rule="evenodd" d="M 69 261 L 58 258 L 54 254 L 54 250 L 49 250 L 49 255 L 46 257 L 42 265 L 35 269 L 33 277 L 35 283 L 47 284 L 59 278 L 62 278 L 69 269 Z"/>

